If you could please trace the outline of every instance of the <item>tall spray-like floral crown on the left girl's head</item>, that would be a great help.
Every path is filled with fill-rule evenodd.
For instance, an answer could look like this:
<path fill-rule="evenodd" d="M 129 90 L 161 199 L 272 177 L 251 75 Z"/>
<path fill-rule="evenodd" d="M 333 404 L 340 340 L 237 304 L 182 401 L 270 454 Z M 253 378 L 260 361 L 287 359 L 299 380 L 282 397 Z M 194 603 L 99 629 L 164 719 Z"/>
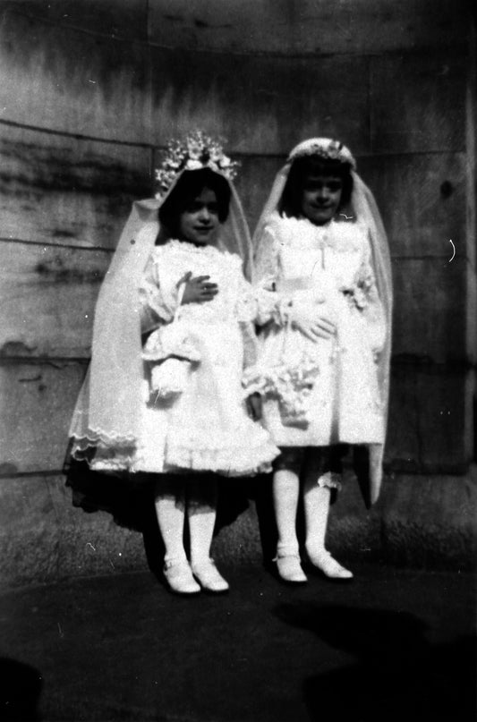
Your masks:
<path fill-rule="evenodd" d="M 185 171 L 210 168 L 224 175 L 227 181 L 233 181 L 240 164 L 226 156 L 220 140 L 214 140 L 202 131 L 193 131 L 184 140 L 170 140 L 159 168 L 156 168 L 156 180 L 159 190 L 156 198 L 162 198 L 175 181 L 175 177 Z"/>

